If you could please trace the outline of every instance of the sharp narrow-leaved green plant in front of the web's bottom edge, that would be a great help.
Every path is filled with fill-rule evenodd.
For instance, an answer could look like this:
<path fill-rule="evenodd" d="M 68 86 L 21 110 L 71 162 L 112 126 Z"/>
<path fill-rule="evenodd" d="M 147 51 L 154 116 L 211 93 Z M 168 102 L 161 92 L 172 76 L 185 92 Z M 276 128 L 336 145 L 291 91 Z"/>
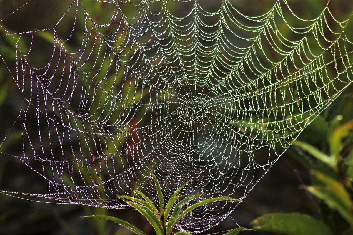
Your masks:
<path fill-rule="evenodd" d="M 154 230 L 156 231 L 157 235 L 170 235 L 172 233 L 172 230 L 174 229 L 175 225 L 188 213 L 192 213 L 192 210 L 202 206 L 207 203 L 211 202 L 217 202 L 217 201 L 225 201 L 225 200 L 236 200 L 239 201 L 238 199 L 230 198 L 230 197 L 216 197 L 216 198 L 209 198 L 202 200 L 200 202 L 197 202 L 189 207 L 187 207 L 185 210 L 183 210 L 183 207 L 190 202 L 194 198 L 201 197 L 201 194 L 196 194 L 193 196 L 188 196 L 185 197 L 184 199 L 180 200 L 177 203 L 177 200 L 180 198 L 179 192 L 180 190 L 185 187 L 190 181 L 186 182 L 183 184 L 181 187 L 177 189 L 177 191 L 174 192 L 172 197 L 170 197 L 167 206 L 164 206 L 164 200 L 163 200 L 163 194 L 162 194 L 162 189 L 161 185 L 159 184 L 156 176 L 152 174 L 152 178 L 155 182 L 155 185 L 157 187 L 157 197 L 159 200 L 159 208 L 160 210 L 158 211 L 157 207 L 153 204 L 153 202 L 142 192 L 135 190 L 137 194 L 139 194 L 143 199 L 135 198 L 135 197 L 129 197 L 129 196 L 120 196 L 118 195 L 119 198 L 122 198 L 127 204 L 131 205 L 134 209 L 136 209 L 140 214 L 142 214 L 148 222 L 152 225 Z M 174 208 L 173 208 L 173 205 Z M 173 210 L 172 210 L 173 208 Z M 92 218 L 92 219 L 106 219 L 109 221 L 113 221 L 115 223 L 120 224 L 121 226 L 130 229 L 137 235 L 146 235 L 143 231 L 140 229 L 134 227 L 130 223 L 116 218 L 112 216 L 106 216 L 106 215 L 90 215 L 90 216 L 84 216 L 81 218 Z M 169 218 L 169 219 L 168 219 Z M 240 231 L 244 230 L 251 230 L 247 228 L 235 228 L 230 231 L 228 231 L 225 235 L 235 235 L 238 234 Z M 190 234 L 186 231 L 178 231 L 176 233 L 177 235 L 187 235 Z"/>

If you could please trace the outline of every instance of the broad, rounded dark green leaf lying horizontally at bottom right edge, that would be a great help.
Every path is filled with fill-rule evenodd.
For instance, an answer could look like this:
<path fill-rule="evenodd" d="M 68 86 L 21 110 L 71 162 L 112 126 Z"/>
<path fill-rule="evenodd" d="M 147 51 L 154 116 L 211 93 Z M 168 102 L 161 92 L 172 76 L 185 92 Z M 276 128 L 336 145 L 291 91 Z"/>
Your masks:
<path fill-rule="evenodd" d="M 265 214 L 250 223 L 253 229 L 269 231 L 281 235 L 332 235 L 324 222 L 309 215 L 291 213 Z"/>

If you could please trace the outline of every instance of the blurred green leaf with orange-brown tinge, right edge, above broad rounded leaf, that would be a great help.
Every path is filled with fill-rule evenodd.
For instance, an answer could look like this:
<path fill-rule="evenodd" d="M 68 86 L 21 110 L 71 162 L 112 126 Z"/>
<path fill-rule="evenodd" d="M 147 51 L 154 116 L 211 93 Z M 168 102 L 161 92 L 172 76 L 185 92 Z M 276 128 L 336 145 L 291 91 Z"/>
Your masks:
<path fill-rule="evenodd" d="M 339 211 L 349 223 L 353 224 L 353 203 L 345 187 L 321 172 L 315 171 L 313 174 L 323 185 L 307 186 L 305 189 Z"/>

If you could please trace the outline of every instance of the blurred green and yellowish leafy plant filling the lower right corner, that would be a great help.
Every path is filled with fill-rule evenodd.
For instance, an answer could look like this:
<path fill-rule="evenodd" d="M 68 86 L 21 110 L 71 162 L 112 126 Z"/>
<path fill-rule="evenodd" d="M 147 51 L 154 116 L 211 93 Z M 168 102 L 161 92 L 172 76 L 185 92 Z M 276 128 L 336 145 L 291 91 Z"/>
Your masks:
<path fill-rule="evenodd" d="M 347 107 L 345 112 L 351 113 Z M 254 229 L 283 235 L 353 233 L 353 120 L 338 115 L 326 121 L 319 116 L 310 128 L 322 134 L 317 137 L 321 143 L 306 134 L 289 152 L 310 172 L 312 185 L 302 188 L 318 199 L 322 220 L 298 213 L 265 214 L 251 223 Z"/>

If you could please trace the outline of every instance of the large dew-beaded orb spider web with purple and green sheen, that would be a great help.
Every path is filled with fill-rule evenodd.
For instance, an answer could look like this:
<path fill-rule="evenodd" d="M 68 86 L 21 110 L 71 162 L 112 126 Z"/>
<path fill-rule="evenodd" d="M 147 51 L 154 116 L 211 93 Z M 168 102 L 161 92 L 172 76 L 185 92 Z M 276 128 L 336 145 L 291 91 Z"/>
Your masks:
<path fill-rule="evenodd" d="M 21 131 L 20 151 L 3 155 L 48 183 L 30 195 L 62 202 L 124 208 L 116 194 L 136 189 L 156 200 L 152 172 L 166 198 L 191 180 L 183 196 L 244 200 L 352 83 L 352 11 L 333 8 L 304 19 L 287 0 L 257 16 L 226 0 L 74 0 L 53 27 L 4 28 L 24 101 L 6 136 Z M 180 228 L 204 231 L 238 204 L 207 204 Z"/>

